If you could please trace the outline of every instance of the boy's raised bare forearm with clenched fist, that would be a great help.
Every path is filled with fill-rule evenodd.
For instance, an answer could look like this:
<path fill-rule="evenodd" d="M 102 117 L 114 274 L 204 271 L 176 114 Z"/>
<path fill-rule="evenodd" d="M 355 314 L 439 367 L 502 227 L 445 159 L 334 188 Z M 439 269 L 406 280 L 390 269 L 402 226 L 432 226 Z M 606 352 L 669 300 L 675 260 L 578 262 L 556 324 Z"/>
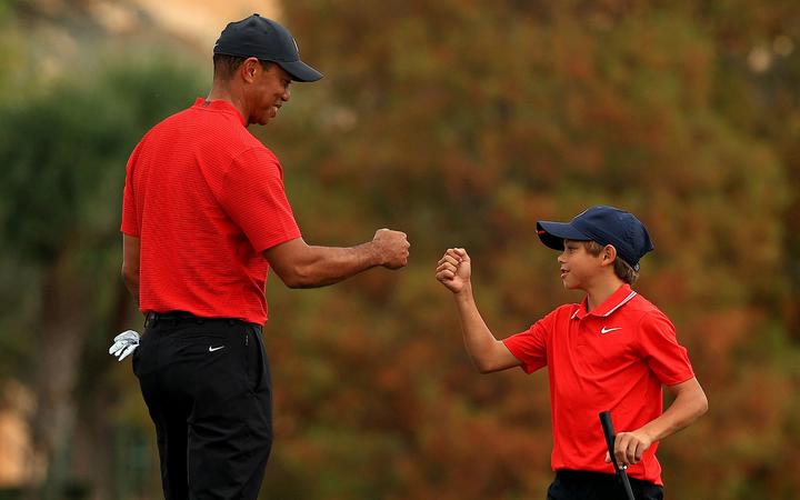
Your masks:
<path fill-rule="evenodd" d="M 470 258 L 462 248 L 448 249 L 437 267 L 437 279 L 453 292 L 464 347 L 472 363 L 481 373 L 519 367 L 520 360 L 494 338 L 478 311 L 470 274 Z"/>

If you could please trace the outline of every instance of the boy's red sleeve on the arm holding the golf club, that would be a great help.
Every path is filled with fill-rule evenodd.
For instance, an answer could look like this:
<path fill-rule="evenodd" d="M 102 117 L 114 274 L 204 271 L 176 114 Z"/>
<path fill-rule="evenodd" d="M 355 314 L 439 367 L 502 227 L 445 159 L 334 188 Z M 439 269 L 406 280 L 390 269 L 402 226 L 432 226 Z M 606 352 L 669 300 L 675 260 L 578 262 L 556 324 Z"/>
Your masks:
<path fill-rule="evenodd" d="M 642 317 L 639 348 L 650 369 L 664 386 L 674 386 L 694 377 L 687 349 L 678 343 L 672 322 L 660 312 Z"/>

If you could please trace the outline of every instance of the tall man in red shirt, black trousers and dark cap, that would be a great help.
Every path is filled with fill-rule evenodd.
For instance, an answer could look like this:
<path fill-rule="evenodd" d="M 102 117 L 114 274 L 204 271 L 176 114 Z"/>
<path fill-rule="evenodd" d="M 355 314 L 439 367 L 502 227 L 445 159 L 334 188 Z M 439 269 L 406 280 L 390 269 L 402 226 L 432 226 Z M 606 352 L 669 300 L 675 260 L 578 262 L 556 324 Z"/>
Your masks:
<path fill-rule="evenodd" d="M 272 441 L 261 326 L 271 267 L 322 287 L 408 261 L 402 232 L 351 248 L 308 246 L 280 162 L 247 131 L 316 81 L 292 36 L 253 14 L 222 31 L 208 98 L 167 118 L 128 161 L 124 282 L 146 314 L 133 371 L 156 424 L 164 497 L 256 499 Z"/>

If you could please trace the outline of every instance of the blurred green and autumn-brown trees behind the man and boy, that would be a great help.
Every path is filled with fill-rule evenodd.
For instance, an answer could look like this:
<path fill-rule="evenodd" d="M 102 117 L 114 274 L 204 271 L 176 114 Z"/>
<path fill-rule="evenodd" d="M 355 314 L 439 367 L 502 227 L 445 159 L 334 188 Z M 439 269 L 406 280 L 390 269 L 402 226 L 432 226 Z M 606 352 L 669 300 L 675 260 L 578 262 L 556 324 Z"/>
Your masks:
<path fill-rule="evenodd" d="M 210 47 L 158 30 L 114 42 L 92 2 L 51 3 L 0 9 L 0 410 L 27 416 L 21 494 L 159 498 L 136 379 L 107 354 L 141 328 L 119 280 L 121 187 L 141 134 L 208 91 Z M 110 46 L 48 69 L 47 40 L 27 36 L 42 17 Z M 252 131 L 283 162 L 307 241 L 391 227 L 412 256 L 328 289 L 271 280 L 262 498 L 543 498 L 547 376 L 477 374 L 433 268 L 466 247 L 489 326 L 521 331 L 580 300 L 536 220 L 596 203 L 648 224 L 637 288 L 710 400 L 660 448 L 668 498 L 796 497 L 797 2 L 302 0 L 280 19 L 326 79 Z"/>

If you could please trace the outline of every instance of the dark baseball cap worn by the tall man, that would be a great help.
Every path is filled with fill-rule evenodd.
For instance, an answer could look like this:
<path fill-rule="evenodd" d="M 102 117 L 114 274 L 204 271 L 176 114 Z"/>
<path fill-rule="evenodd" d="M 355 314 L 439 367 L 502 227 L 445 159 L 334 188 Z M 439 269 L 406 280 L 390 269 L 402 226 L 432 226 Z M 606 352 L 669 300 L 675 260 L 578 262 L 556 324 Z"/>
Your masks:
<path fill-rule="evenodd" d="M 213 53 L 274 62 L 296 81 L 322 78 L 322 73 L 300 60 L 300 51 L 289 30 L 257 13 L 229 23 L 214 43 Z"/>

